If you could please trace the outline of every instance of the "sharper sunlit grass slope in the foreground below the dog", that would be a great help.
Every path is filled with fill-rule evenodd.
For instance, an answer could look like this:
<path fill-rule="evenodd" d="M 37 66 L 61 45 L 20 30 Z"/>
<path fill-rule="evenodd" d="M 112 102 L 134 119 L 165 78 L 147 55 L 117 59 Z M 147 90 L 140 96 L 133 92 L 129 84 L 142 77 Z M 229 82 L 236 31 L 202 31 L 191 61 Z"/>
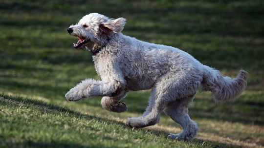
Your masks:
<path fill-rule="evenodd" d="M 27 98 L 2 96 L 0 103 L 4 147 L 175 147 L 175 142 L 166 139 L 162 131 L 131 129 L 123 122 Z M 201 148 L 202 143 L 201 140 L 177 142 L 177 148 Z M 216 144 L 208 141 L 204 146 L 213 145 Z"/>

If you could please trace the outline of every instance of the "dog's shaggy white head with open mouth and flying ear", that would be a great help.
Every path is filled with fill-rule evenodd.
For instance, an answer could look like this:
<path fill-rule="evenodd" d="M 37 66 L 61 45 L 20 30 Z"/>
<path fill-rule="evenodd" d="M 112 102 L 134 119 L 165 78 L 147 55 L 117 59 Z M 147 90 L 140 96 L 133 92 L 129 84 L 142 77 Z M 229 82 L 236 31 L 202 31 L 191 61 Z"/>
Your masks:
<path fill-rule="evenodd" d="M 98 13 L 90 13 L 77 24 L 69 26 L 67 31 L 78 38 L 78 42 L 73 43 L 76 49 L 91 48 L 95 43 L 106 43 L 113 34 L 121 32 L 125 23 L 124 18 L 114 20 Z"/>

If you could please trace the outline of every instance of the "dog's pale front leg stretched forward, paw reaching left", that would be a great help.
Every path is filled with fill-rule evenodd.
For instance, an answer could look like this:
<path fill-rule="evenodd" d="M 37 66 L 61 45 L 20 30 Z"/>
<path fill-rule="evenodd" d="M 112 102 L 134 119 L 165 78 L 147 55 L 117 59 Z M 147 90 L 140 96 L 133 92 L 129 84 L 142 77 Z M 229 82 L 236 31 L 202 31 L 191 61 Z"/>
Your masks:
<path fill-rule="evenodd" d="M 82 98 L 91 96 L 112 96 L 122 84 L 118 81 L 104 82 L 92 79 L 86 79 L 71 88 L 65 95 L 68 101 L 78 101 Z"/>

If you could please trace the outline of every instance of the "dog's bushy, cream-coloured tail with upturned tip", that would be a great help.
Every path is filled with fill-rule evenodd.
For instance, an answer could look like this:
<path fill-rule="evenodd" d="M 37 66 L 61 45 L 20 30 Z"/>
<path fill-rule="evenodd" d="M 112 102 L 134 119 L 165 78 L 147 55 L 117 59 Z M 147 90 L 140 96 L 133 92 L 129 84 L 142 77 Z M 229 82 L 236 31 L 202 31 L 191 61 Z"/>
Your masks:
<path fill-rule="evenodd" d="M 216 102 L 236 99 L 246 87 L 249 74 L 240 70 L 236 78 L 223 77 L 218 70 L 204 65 L 202 90 L 210 90 Z"/>

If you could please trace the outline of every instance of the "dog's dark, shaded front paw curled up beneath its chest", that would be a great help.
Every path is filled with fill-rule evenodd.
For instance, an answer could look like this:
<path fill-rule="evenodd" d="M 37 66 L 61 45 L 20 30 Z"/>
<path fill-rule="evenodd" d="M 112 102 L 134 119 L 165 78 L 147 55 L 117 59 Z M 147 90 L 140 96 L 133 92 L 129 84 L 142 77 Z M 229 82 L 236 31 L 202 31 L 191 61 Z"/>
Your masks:
<path fill-rule="evenodd" d="M 119 94 L 112 97 L 103 97 L 101 100 L 101 105 L 104 109 L 113 112 L 124 112 L 127 111 L 127 106 L 123 102 L 119 102 L 126 96 L 126 91 L 121 91 Z"/>

